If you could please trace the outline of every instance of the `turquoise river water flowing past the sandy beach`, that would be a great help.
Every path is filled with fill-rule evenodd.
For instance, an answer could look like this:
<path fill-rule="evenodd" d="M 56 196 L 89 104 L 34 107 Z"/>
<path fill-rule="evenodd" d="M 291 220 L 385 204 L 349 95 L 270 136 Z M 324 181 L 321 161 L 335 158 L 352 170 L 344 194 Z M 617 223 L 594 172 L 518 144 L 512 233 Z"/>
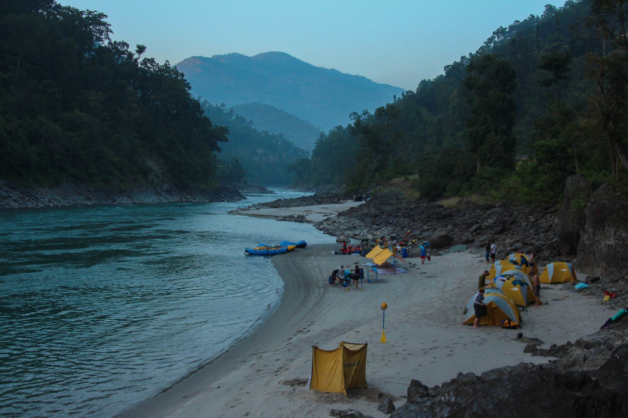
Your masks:
<path fill-rule="evenodd" d="M 283 282 L 244 247 L 333 240 L 227 211 L 301 195 L 0 211 L 0 415 L 111 416 L 251 333 Z"/>

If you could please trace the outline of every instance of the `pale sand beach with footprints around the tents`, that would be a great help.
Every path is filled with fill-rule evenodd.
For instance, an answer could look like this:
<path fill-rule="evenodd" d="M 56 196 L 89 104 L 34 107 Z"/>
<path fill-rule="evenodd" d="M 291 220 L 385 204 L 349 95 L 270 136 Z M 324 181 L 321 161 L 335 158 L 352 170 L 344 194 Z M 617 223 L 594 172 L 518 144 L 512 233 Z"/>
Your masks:
<path fill-rule="evenodd" d="M 125 415 L 327 417 L 332 408 L 350 407 L 384 417 L 377 411 L 377 395 L 405 395 L 411 378 L 435 385 L 457 372 L 481 373 L 519 362 L 548 361 L 523 353 L 525 345 L 512 340 L 517 330 L 462 325 L 464 305 L 488 266 L 478 262 L 480 256 L 433 257 L 419 270 L 380 276 L 378 283 L 364 282 L 363 291 L 345 292 L 328 284 L 330 272 L 339 264 L 362 264 L 365 259 L 331 255 L 336 247 L 315 245 L 273 257 L 285 291 L 266 323 L 215 362 Z M 560 291 L 561 286 L 541 291 L 548 306 L 529 306 L 522 313 L 524 336 L 540 338 L 545 347 L 593 333 L 611 316 L 593 298 Z M 384 301 L 388 304 L 386 344 L 379 342 Z M 369 343 L 368 390 L 344 397 L 279 383 L 308 378 L 311 346 L 331 350 L 339 341 Z M 405 400 L 394 402 L 399 406 Z"/>

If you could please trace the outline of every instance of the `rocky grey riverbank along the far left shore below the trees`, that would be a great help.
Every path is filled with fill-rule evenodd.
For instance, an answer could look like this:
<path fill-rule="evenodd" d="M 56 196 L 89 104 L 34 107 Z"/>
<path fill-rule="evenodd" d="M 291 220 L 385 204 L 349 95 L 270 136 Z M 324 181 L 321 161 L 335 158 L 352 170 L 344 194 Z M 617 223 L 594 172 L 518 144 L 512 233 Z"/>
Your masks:
<path fill-rule="evenodd" d="M 266 192 L 256 192 L 266 193 Z M 178 190 L 169 185 L 132 190 L 94 188 L 75 183 L 54 187 L 24 187 L 0 181 L 0 209 L 44 208 L 73 205 L 139 205 L 144 203 L 208 203 L 246 199 L 237 188 Z"/>

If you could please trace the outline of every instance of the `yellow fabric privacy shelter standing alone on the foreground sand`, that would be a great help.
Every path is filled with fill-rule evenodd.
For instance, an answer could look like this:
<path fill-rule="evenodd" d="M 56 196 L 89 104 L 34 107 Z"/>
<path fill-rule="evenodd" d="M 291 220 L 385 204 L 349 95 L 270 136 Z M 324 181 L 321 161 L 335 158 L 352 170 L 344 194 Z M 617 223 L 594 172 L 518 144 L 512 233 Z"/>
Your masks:
<path fill-rule="evenodd" d="M 349 389 L 366 389 L 367 344 L 340 343 L 335 350 L 312 346 L 310 389 L 347 395 Z"/>

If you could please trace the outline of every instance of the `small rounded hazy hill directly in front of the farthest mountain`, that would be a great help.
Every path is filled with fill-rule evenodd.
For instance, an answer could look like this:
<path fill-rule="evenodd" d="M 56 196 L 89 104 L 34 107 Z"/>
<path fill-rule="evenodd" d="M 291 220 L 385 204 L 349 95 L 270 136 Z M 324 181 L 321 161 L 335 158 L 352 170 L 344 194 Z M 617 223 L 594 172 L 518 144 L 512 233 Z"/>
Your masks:
<path fill-rule="evenodd" d="M 320 129 L 299 117 L 263 103 L 247 103 L 233 107 L 237 114 L 253 121 L 257 131 L 283 134 L 298 147 L 311 151 L 320 135 Z"/>

